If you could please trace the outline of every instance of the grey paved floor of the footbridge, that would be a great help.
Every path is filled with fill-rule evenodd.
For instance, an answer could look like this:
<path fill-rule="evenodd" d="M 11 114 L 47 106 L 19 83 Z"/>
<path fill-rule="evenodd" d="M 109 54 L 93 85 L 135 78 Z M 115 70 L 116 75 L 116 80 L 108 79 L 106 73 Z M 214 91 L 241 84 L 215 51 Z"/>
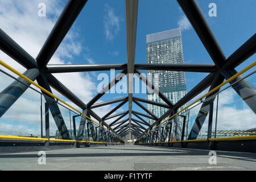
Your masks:
<path fill-rule="evenodd" d="M 256 170 L 256 154 L 217 151 L 210 165 L 207 150 L 154 146 L 98 146 L 46 151 L 46 165 L 38 152 L 0 154 L 0 170 Z"/>

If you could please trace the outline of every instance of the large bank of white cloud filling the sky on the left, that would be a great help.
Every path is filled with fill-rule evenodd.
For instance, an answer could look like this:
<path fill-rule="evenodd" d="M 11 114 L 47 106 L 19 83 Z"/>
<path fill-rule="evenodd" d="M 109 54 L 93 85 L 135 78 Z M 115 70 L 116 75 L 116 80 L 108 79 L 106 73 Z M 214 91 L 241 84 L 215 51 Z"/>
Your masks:
<path fill-rule="evenodd" d="M 46 17 L 38 16 L 38 3 L 46 3 L 47 12 Z M 51 0 L 23 0 L 23 1 L 5 1 L 0 0 L 0 24 L 3 31 L 6 32 L 16 43 L 18 43 L 23 49 L 25 49 L 32 57 L 36 57 L 46 41 L 49 32 L 51 32 L 57 18 L 59 17 L 64 6 L 61 6 L 61 1 Z M 110 12 L 110 16 L 112 13 Z M 75 31 L 69 31 L 65 37 L 63 43 L 57 49 L 55 55 L 49 61 L 49 64 L 71 64 L 73 56 L 80 55 L 82 51 L 88 51 L 88 47 L 81 45 L 80 39 L 78 39 L 79 33 Z M 26 71 L 22 65 L 19 65 L 0 51 L 0 59 L 9 64 L 19 72 Z M 67 60 L 67 61 L 66 61 Z M 93 63 L 92 57 L 88 57 L 89 63 Z M 1 67 L 3 69 L 3 67 Z M 6 69 L 4 69 L 6 70 Z M 8 71 L 9 72 L 9 71 Z M 10 73 L 10 72 L 9 72 Z M 13 75 L 13 73 L 11 73 Z M 9 77 L 3 77 L 0 73 L 0 92 L 6 88 L 13 80 Z M 77 97 L 80 98 L 85 104 L 96 94 L 96 82 L 88 73 L 63 73 L 54 74 L 54 76 L 60 80 L 69 90 L 71 90 Z M 15 77 L 17 77 L 15 75 Z M 96 79 L 97 77 L 95 77 Z M 65 99 L 56 90 L 52 89 L 53 94 L 57 97 L 65 100 L 68 104 L 74 106 L 80 110 L 71 101 Z M 43 99 L 44 100 L 44 99 Z M 44 101 L 43 101 L 44 106 Z M 109 109 L 106 108 L 97 109 L 98 115 L 103 115 Z M 65 110 L 65 111 L 64 111 Z M 61 114 L 64 117 L 65 123 L 69 128 L 69 113 L 67 109 L 61 109 Z M 43 109 L 44 113 L 44 109 Z M 50 114 L 50 130 L 54 134 L 56 131 L 56 125 Z M 44 119 L 44 115 L 43 115 Z M 14 127 L 17 132 L 39 133 L 40 128 L 40 95 L 28 89 L 18 101 L 6 112 L 0 119 L 1 131 L 8 131 L 13 133 Z M 12 126 L 12 127 L 11 127 Z"/>

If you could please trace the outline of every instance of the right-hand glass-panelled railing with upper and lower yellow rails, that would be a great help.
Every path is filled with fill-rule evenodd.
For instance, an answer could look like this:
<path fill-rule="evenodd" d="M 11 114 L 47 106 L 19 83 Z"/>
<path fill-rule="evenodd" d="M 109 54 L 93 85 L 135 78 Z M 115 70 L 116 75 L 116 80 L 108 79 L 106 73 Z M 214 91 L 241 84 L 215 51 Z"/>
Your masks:
<path fill-rule="evenodd" d="M 214 104 L 215 107 L 213 107 L 214 97 L 217 96 L 217 100 L 215 100 L 215 102 L 222 100 L 222 98 L 219 99 L 219 94 L 225 93 L 225 90 L 229 89 L 231 86 L 239 84 L 239 82 L 242 81 L 243 79 L 255 76 L 254 74 L 256 71 L 254 70 L 253 72 L 249 73 L 247 76 L 241 78 L 241 80 L 237 80 L 236 82 L 233 82 L 233 84 L 230 84 L 229 86 L 227 86 L 226 88 L 224 88 L 220 91 L 218 91 L 218 90 L 222 86 L 228 84 L 230 81 L 237 78 L 238 76 L 240 76 L 243 73 L 254 68 L 255 65 L 256 65 L 256 61 L 254 61 L 254 63 L 250 64 L 245 69 L 242 69 L 242 71 L 238 72 L 236 75 L 230 77 L 228 80 L 222 82 L 222 84 L 216 86 L 215 88 L 213 88 L 212 90 L 210 90 L 208 93 L 204 94 L 197 100 L 193 101 L 188 106 L 185 106 L 180 111 L 177 111 L 177 113 L 171 115 L 171 117 L 165 119 L 159 125 L 155 126 L 151 130 L 148 130 L 146 133 L 144 133 L 141 137 L 138 138 L 136 143 L 137 144 L 152 144 L 152 143 L 175 143 L 175 142 L 203 142 L 203 141 L 207 141 L 207 140 L 214 141 L 214 140 L 229 140 L 229 139 L 232 139 L 232 140 L 233 139 L 255 139 L 256 138 L 256 135 L 254 135 L 255 132 L 250 132 L 250 131 L 237 133 L 236 135 L 233 133 L 234 137 L 230 137 L 230 135 L 224 136 L 224 135 L 221 135 L 221 133 L 217 132 L 217 115 L 218 115 L 217 112 L 220 112 L 220 109 L 218 109 L 218 105 L 220 105 L 220 104 L 215 103 Z M 218 92 L 214 93 L 214 92 L 216 92 L 216 90 Z M 203 101 L 203 98 L 209 96 L 210 94 L 212 94 L 212 95 Z M 250 99 L 250 97 L 253 97 L 253 96 L 245 96 L 242 98 L 242 101 L 246 100 L 246 99 Z M 186 105 L 186 104 L 184 104 L 184 105 Z M 199 113 L 199 111 L 201 111 L 201 113 L 199 113 L 196 118 L 191 119 L 191 116 L 189 115 L 189 113 L 191 113 L 191 111 L 195 110 L 196 107 L 199 107 L 202 105 L 204 107 L 209 107 L 207 109 L 207 111 L 203 112 L 203 110 L 197 109 L 197 113 Z M 250 108 L 249 108 L 249 110 L 250 110 Z M 215 111 L 215 114 L 213 114 L 213 111 Z M 253 111 L 251 111 L 251 113 L 253 113 Z M 256 123 L 255 114 L 253 113 L 251 115 L 253 115 L 252 117 L 254 117 L 254 121 Z M 198 121 L 200 117 L 203 118 L 201 123 L 200 123 L 200 121 Z M 203 127 L 203 126 L 200 126 L 200 124 L 203 124 L 205 126 L 206 122 L 204 120 L 207 120 L 206 119 L 207 117 L 208 117 L 208 121 L 207 121 L 208 129 L 206 130 L 205 135 L 200 135 L 202 133 L 200 131 L 201 127 Z M 213 117 L 215 117 L 215 121 L 213 121 Z M 247 116 L 245 116 L 245 117 L 247 117 Z M 199 129 L 199 131 L 192 131 L 192 129 L 194 129 L 194 127 L 192 128 L 192 126 L 194 126 L 196 124 L 195 123 L 196 120 L 198 122 L 197 125 L 199 125 L 200 129 Z M 219 118 L 219 120 L 220 120 L 220 118 Z M 194 123 L 192 123 L 192 122 L 194 122 Z M 213 122 L 215 122 L 215 126 L 214 126 L 215 131 L 212 131 Z M 218 121 L 218 123 L 220 123 L 220 122 L 221 121 Z M 240 122 L 242 122 L 242 121 L 240 121 Z M 193 125 L 189 126 L 189 124 L 193 124 Z M 174 126 L 174 125 L 176 125 L 176 126 Z M 243 125 L 243 123 L 241 123 L 241 125 Z M 172 131 L 174 129 L 175 129 L 175 131 Z M 190 135 L 188 135 L 188 132 L 190 132 Z M 198 134 L 196 136 L 197 137 L 196 139 L 191 139 L 191 138 L 193 138 L 193 137 L 191 137 L 191 134 L 193 132 L 195 134 Z M 179 139 L 177 139 L 176 135 L 179 136 Z M 242 135 L 242 136 L 240 136 L 240 135 Z M 244 136 L 244 135 L 251 135 L 251 136 Z"/>

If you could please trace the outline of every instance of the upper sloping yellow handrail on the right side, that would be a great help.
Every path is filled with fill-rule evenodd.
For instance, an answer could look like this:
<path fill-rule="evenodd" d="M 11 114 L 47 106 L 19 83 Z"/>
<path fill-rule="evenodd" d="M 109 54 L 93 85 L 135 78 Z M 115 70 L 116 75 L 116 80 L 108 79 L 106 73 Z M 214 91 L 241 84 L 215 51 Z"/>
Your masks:
<path fill-rule="evenodd" d="M 228 80 L 222 82 L 222 84 L 216 86 L 214 89 L 210 90 L 208 93 L 204 94 L 204 96 L 201 96 L 200 98 L 198 98 L 196 101 L 192 102 L 191 104 L 189 104 L 188 106 L 184 107 L 183 109 L 181 109 L 179 112 L 177 112 L 176 114 L 172 115 L 170 118 L 166 119 L 165 121 L 163 121 L 162 123 L 160 123 L 158 126 L 156 126 L 154 129 L 157 129 L 160 125 L 163 125 L 163 123 L 169 121 L 171 118 L 175 117 L 175 115 L 181 113 L 182 111 L 184 111 L 185 109 L 187 109 L 188 107 L 192 106 L 193 104 L 195 104 L 196 102 L 200 101 L 202 98 L 209 96 L 209 94 L 215 92 L 216 90 L 218 90 L 219 88 L 221 88 L 221 86 L 228 84 L 228 82 L 234 80 L 235 78 L 237 78 L 238 76 L 242 75 L 242 73 L 245 73 L 246 71 L 248 71 L 249 69 L 253 68 L 256 65 L 256 61 L 254 61 L 254 63 L 250 64 L 249 66 L 247 66 L 245 69 L 242 69 L 240 72 L 236 73 L 236 75 L 233 75 L 232 77 L 230 77 Z M 149 132 L 151 132 L 152 130 L 150 130 Z"/>

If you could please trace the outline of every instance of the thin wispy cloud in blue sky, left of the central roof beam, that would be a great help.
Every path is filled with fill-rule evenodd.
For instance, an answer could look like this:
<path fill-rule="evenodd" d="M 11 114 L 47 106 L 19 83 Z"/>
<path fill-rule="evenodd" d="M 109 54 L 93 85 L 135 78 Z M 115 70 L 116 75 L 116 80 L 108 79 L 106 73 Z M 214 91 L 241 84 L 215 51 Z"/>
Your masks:
<path fill-rule="evenodd" d="M 114 9 L 108 4 L 105 5 L 105 34 L 106 40 L 112 41 L 120 31 L 120 22 L 122 18 L 114 14 Z"/>

